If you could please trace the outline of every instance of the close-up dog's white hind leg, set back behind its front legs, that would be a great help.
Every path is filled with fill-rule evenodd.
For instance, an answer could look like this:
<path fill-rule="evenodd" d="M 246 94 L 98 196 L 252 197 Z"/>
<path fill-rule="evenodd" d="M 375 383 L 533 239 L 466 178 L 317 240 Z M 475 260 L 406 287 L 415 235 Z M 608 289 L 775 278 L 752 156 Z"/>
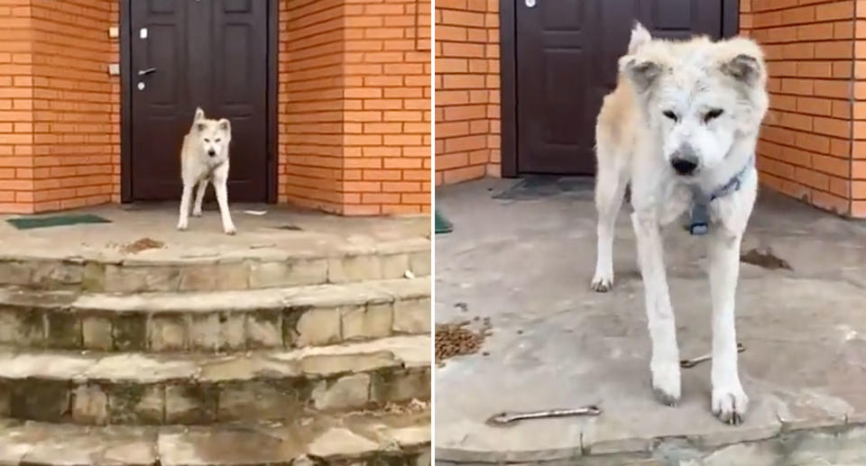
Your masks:
<path fill-rule="evenodd" d="M 591 287 L 605 292 L 613 288 L 613 233 L 620 213 L 622 197 L 628 184 L 624 169 L 613 165 L 615 160 L 599 160 L 595 178 L 596 224 L 595 275 Z"/>

